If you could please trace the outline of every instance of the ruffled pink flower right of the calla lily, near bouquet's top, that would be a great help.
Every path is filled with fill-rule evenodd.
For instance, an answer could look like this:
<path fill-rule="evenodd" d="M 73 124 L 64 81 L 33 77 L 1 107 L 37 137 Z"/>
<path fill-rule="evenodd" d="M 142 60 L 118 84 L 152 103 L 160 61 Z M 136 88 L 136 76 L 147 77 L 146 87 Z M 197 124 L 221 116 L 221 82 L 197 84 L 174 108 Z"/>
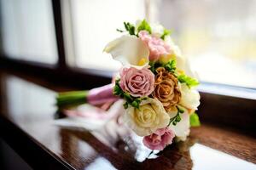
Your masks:
<path fill-rule="evenodd" d="M 160 58 L 160 55 L 171 53 L 171 47 L 160 37 L 150 36 L 148 31 L 140 31 L 138 36 L 148 45 L 150 52 L 149 60 L 155 61 Z"/>

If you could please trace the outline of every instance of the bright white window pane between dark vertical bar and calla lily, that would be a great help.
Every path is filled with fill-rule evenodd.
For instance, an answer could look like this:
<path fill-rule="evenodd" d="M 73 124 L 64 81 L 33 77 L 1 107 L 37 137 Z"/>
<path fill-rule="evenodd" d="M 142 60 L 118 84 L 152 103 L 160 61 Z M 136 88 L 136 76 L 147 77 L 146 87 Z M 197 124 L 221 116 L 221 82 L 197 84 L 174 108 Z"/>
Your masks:
<path fill-rule="evenodd" d="M 117 28 L 123 28 L 125 20 L 145 18 L 143 0 L 77 0 L 64 8 L 64 20 L 70 10 L 73 54 L 69 62 L 73 66 L 116 71 L 119 62 L 103 54 L 105 45 L 119 37 Z M 70 24 L 70 23 L 67 23 Z M 67 26 L 66 26 L 67 28 Z M 73 57 L 74 56 L 74 57 Z"/>

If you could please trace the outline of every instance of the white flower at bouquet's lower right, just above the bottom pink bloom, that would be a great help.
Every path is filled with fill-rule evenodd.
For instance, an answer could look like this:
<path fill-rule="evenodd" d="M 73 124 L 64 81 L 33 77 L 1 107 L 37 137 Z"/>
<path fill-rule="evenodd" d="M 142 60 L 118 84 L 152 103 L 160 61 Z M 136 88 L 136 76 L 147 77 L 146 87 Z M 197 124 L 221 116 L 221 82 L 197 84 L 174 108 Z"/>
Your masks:
<path fill-rule="evenodd" d="M 189 136 L 190 133 L 190 122 L 189 122 L 189 112 L 185 108 L 183 108 L 183 113 L 180 113 L 181 121 L 177 122 L 176 125 L 170 124 L 170 128 L 175 133 L 175 136 L 177 137 L 177 140 L 186 140 L 187 136 Z M 177 113 L 176 113 L 177 115 Z M 176 116 L 175 115 L 175 116 Z"/>

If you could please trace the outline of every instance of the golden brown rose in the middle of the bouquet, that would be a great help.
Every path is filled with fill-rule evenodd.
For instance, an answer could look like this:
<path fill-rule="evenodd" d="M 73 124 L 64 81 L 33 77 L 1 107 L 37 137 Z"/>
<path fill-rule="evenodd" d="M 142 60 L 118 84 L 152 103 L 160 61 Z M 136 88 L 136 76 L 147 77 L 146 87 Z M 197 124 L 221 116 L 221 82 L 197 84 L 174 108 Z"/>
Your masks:
<path fill-rule="evenodd" d="M 153 96 L 159 99 L 166 111 L 176 110 L 175 105 L 181 98 L 181 92 L 177 85 L 177 78 L 164 67 L 156 69 L 157 75 L 154 82 Z"/>

